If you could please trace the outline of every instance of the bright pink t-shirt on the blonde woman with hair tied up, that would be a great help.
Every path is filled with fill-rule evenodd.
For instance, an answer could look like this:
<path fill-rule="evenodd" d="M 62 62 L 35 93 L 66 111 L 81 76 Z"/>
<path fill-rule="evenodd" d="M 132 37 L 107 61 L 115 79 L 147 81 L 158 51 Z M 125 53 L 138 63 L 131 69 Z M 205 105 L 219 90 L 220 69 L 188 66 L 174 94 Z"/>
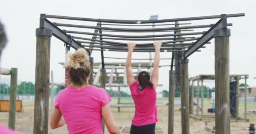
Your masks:
<path fill-rule="evenodd" d="M 54 107 L 61 111 L 69 134 L 103 134 L 101 107 L 110 101 L 103 88 L 88 85 L 78 91 L 67 87 L 57 95 Z"/>

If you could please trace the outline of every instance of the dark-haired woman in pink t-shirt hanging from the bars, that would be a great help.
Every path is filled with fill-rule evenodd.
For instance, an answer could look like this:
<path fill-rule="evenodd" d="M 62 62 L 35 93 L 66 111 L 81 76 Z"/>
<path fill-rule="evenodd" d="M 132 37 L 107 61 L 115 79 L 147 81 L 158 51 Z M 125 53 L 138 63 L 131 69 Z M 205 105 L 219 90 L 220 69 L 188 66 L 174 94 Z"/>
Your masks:
<path fill-rule="evenodd" d="M 160 62 L 160 47 L 162 41 L 154 41 L 155 60 L 150 79 L 149 72 L 139 72 L 138 82 L 131 69 L 131 57 L 136 44 L 128 42 L 128 55 L 126 59 L 126 75 L 135 103 L 135 114 L 132 119 L 130 134 L 155 134 L 157 119 L 156 88 L 158 84 L 158 68 Z"/>

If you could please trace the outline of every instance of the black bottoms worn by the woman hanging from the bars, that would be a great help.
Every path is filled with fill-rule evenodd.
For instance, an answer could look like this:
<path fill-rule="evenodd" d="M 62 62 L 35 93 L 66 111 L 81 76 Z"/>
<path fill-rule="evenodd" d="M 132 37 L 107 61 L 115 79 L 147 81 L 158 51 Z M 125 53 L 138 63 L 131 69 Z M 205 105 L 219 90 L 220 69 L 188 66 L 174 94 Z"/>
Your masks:
<path fill-rule="evenodd" d="M 130 134 L 155 134 L 155 123 L 143 126 L 131 124 Z"/>

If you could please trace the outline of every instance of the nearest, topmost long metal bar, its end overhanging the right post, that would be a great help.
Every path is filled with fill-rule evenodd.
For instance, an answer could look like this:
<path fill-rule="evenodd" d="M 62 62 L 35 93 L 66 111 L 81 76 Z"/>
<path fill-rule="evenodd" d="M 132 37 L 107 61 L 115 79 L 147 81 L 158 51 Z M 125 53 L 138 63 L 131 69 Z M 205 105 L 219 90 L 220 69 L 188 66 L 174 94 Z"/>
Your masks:
<path fill-rule="evenodd" d="M 227 17 L 239 17 L 244 16 L 244 13 L 228 14 Z M 111 19 L 95 19 L 95 18 L 81 18 L 81 17 L 69 17 L 59 15 L 45 15 L 46 18 L 57 18 L 66 20 L 77 20 L 77 21 L 93 21 L 93 22 L 104 22 L 104 23 L 123 23 L 123 24 L 145 24 L 145 23 L 164 23 L 164 22 L 175 22 L 175 21 L 193 21 L 193 20 L 205 20 L 221 18 L 221 15 L 210 15 L 200 17 L 188 17 L 188 18 L 173 18 L 163 20 L 111 20 Z"/>

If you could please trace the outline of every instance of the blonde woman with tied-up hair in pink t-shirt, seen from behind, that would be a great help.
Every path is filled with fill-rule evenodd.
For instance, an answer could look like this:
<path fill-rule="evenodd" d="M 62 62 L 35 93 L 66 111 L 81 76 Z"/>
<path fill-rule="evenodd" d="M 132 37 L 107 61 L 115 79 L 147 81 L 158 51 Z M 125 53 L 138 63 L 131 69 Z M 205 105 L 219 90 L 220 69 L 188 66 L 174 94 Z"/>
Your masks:
<path fill-rule="evenodd" d="M 69 134 L 103 134 L 104 120 L 110 134 L 119 134 L 112 116 L 107 91 L 88 85 L 91 65 L 85 49 L 70 54 L 66 63 L 70 86 L 61 90 L 55 100 L 50 126 L 52 129 L 67 124 Z"/>

